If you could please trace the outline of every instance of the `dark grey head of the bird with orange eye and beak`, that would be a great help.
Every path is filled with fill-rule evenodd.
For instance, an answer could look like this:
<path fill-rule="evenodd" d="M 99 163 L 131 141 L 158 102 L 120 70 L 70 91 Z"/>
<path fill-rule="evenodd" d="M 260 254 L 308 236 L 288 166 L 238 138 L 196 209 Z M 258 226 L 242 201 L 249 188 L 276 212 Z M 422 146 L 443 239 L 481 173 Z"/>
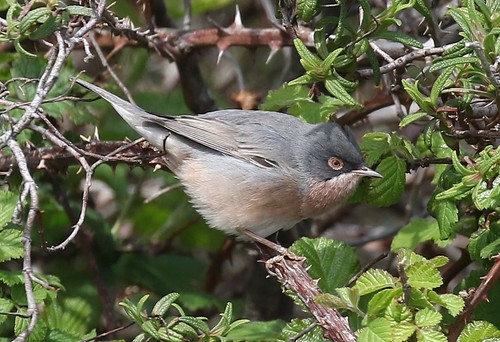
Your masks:
<path fill-rule="evenodd" d="M 309 179 L 327 181 L 347 173 L 379 176 L 364 165 L 359 146 L 347 127 L 336 123 L 312 127 L 301 142 L 298 160 Z"/>

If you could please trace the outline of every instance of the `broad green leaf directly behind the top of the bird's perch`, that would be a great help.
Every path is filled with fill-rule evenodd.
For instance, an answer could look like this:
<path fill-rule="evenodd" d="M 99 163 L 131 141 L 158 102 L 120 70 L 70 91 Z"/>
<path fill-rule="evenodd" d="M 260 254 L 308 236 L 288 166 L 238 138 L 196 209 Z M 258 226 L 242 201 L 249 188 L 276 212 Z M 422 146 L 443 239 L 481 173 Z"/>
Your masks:
<path fill-rule="evenodd" d="M 302 238 L 290 250 L 307 258 L 309 274 L 319 279 L 322 290 L 332 293 L 359 270 L 356 250 L 344 242 L 326 238 Z"/>

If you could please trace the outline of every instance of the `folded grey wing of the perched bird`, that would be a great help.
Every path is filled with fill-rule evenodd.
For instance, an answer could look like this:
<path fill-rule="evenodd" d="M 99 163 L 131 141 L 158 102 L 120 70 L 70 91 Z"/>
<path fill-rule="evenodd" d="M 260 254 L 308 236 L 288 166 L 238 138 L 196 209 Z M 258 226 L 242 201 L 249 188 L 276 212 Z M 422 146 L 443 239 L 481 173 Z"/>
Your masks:
<path fill-rule="evenodd" d="M 175 134 L 263 167 L 291 166 L 292 145 L 302 125 L 286 114 L 244 110 L 221 110 L 163 121 L 163 126 Z"/>

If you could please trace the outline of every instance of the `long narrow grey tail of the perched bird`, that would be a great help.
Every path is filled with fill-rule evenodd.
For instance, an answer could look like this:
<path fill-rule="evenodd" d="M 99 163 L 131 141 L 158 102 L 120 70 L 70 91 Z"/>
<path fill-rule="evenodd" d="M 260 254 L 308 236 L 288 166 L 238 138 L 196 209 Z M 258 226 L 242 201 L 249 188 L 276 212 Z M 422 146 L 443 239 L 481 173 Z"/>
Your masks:
<path fill-rule="evenodd" d="M 151 144 L 163 150 L 165 138 L 170 132 L 158 122 L 158 117 L 146 112 L 144 109 L 125 101 L 118 96 L 106 91 L 92 83 L 75 79 L 75 82 L 84 88 L 87 88 L 104 100 L 109 102 L 118 114 L 132 127 L 137 133 L 146 138 Z"/>

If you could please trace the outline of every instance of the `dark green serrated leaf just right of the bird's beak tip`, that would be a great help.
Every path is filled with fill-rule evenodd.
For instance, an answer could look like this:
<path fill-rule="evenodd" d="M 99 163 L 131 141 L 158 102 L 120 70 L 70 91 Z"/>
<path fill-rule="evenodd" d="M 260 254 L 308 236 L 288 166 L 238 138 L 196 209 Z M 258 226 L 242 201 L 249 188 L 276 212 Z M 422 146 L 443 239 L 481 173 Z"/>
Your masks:
<path fill-rule="evenodd" d="M 376 169 L 384 178 L 371 182 L 368 203 L 375 206 L 389 206 L 397 203 L 405 187 L 406 163 L 404 160 L 390 156 L 382 160 Z"/>

